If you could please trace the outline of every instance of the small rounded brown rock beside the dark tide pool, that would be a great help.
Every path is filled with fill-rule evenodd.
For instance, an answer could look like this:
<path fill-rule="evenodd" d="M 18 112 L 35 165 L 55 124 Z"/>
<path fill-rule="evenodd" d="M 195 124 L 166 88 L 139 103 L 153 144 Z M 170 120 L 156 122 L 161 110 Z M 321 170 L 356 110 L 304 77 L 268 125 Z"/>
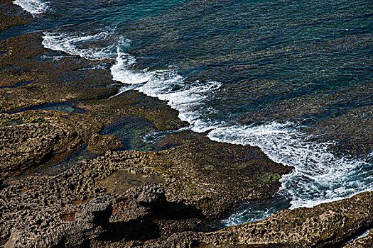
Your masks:
<path fill-rule="evenodd" d="M 94 153 L 105 153 L 107 150 L 117 150 L 123 144 L 116 135 L 94 134 L 88 142 L 88 150 Z"/>

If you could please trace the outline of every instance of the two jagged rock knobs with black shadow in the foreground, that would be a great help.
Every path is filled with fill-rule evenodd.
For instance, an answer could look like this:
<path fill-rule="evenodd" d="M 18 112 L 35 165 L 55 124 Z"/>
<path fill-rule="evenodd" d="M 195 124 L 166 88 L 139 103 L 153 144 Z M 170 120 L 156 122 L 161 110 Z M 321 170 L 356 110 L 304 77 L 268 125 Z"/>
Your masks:
<path fill-rule="evenodd" d="M 76 214 L 76 223 L 85 230 L 85 237 L 110 242 L 122 239 L 146 241 L 162 236 L 157 221 L 205 218 L 201 210 L 191 205 L 168 202 L 164 188 L 156 184 L 144 186 L 140 195 L 134 199 L 129 213 L 130 218 L 137 217 L 134 220 L 109 222 L 111 202 L 112 199 L 107 195 L 94 198 Z"/>

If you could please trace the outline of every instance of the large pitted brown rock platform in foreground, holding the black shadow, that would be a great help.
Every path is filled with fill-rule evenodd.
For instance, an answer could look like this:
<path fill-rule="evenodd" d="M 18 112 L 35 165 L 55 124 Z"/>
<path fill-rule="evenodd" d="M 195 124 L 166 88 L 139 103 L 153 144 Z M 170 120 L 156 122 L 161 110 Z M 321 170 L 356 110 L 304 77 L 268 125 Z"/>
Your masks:
<path fill-rule="evenodd" d="M 242 171 L 237 174 L 237 169 Z M 94 237 L 104 243 L 144 244 L 193 230 L 245 199 L 269 197 L 279 182 L 264 179 L 290 170 L 256 147 L 225 146 L 207 138 L 163 152 L 107 152 L 57 176 L 7 181 L 0 191 L 0 242 L 6 247 L 76 247 Z M 107 180 L 113 175 L 118 180 Z M 115 191 L 122 183 L 127 190 Z M 100 220 L 96 228 L 82 203 L 105 194 L 113 199 L 110 223 Z"/>

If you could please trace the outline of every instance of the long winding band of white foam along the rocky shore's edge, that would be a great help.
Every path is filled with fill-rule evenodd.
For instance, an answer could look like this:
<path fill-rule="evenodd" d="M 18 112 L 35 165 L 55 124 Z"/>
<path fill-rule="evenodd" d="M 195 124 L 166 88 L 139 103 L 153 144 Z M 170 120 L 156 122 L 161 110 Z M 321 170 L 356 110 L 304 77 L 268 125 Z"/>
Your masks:
<path fill-rule="evenodd" d="M 258 146 L 274 162 L 294 167 L 291 174 L 281 178 L 280 189 L 280 192 L 290 195 L 291 208 L 312 207 L 373 190 L 372 163 L 335 156 L 329 150 L 330 143 L 315 142 L 315 137 L 300 132 L 293 123 L 227 126 L 227 123 L 212 118 L 216 110 L 206 101 L 220 89 L 220 82 L 187 83 L 174 69 L 153 72 L 131 70 L 129 67 L 136 63 L 135 58 L 120 50 L 121 46 L 129 43 L 128 40 L 123 39 L 119 45 L 100 49 L 86 48 L 85 43 L 105 39 L 109 35 L 102 32 L 76 37 L 46 33 L 43 45 L 90 60 L 115 58 L 116 64 L 111 67 L 112 77 L 126 84 L 122 91 L 135 89 L 167 101 L 179 111 L 181 120 L 192 125 L 192 130 L 199 133 L 210 130 L 208 137 L 211 140 Z M 271 211 L 268 208 L 259 215 L 266 216 Z M 227 220 L 227 224 L 233 225 L 234 219 Z"/>

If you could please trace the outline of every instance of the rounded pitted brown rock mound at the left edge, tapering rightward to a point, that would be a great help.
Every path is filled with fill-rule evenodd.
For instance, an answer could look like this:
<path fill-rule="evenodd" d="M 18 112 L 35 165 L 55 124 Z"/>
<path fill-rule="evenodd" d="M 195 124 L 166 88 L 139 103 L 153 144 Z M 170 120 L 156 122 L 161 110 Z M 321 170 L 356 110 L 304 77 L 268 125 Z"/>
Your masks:
<path fill-rule="evenodd" d="M 0 114 L 0 176 L 74 152 L 104 120 L 58 111 Z"/>

